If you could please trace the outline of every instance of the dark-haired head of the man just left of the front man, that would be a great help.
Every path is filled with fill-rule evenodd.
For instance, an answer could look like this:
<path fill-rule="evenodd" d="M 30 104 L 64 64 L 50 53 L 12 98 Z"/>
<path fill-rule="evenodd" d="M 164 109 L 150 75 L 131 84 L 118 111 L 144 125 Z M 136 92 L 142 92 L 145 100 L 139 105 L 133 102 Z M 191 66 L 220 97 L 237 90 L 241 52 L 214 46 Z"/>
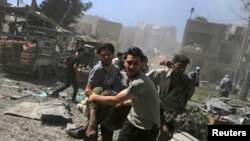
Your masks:
<path fill-rule="evenodd" d="M 105 66 L 108 66 L 112 63 L 114 52 L 115 52 L 115 48 L 110 43 L 104 44 L 97 50 L 97 53 L 99 54 L 101 62 Z"/>

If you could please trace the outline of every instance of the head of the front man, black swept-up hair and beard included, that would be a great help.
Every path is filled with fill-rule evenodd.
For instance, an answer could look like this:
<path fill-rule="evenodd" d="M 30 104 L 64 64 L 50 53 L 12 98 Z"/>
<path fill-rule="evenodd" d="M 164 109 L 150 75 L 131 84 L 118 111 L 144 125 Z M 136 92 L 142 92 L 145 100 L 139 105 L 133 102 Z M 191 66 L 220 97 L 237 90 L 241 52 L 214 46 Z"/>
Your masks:
<path fill-rule="evenodd" d="M 141 70 L 145 55 L 138 47 L 130 47 L 125 54 L 124 66 L 128 77 L 134 78 Z"/>

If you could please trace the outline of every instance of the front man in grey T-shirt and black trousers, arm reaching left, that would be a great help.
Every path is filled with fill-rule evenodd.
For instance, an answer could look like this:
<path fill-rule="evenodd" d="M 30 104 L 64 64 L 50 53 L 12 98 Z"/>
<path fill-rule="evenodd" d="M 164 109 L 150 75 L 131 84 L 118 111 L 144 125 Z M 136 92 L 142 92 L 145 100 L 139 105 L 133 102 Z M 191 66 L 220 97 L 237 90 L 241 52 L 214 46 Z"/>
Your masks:
<path fill-rule="evenodd" d="M 141 70 L 143 52 L 130 48 L 125 55 L 125 70 L 128 76 L 128 88 L 116 96 L 101 96 L 89 93 L 89 101 L 98 101 L 109 105 L 131 103 L 118 141 L 155 141 L 160 126 L 159 97 L 152 81 Z"/>

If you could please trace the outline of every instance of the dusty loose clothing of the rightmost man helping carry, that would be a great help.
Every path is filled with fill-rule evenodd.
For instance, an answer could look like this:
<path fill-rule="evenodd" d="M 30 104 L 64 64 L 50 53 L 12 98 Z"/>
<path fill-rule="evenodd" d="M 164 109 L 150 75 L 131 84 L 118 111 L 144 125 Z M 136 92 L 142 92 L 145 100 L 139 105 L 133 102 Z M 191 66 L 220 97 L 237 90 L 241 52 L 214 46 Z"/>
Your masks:
<path fill-rule="evenodd" d="M 161 128 L 167 126 L 168 134 L 160 132 L 158 141 L 172 138 L 174 133 L 174 114 L 181 113 L 192 97 L 194 85 L 192 80 L 184 73 L 181 74 L 179 83 L 170 88 L 172 69 L 156 69 L 147 75 L 153 80 L 160 96 Z M 173 83 L 173 82 L 172 82 Z"/>

